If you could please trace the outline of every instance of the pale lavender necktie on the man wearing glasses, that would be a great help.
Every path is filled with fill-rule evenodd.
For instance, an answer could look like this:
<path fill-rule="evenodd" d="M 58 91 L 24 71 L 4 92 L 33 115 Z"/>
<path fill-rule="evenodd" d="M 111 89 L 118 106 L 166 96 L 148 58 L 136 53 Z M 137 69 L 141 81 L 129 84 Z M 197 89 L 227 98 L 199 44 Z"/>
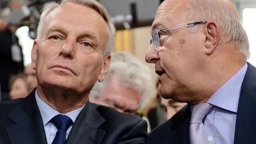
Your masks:
<path fill-rule="evenodd" d="M 190 144 L 208 143 L 206 130 L 202 121 L 211 109 L 212 105 L 207 103 L 194 105 L 190 120 Z"/>

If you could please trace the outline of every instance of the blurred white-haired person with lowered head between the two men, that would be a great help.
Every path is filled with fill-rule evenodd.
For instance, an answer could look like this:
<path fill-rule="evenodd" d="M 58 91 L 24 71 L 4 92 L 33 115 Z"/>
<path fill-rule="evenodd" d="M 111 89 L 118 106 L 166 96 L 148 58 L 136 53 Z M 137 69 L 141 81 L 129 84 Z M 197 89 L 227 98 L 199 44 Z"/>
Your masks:
<path fill-rule="evenodd" d="M 95 83 L 89 100 L 122 113 L 138 114 L 138 110 L 151 103 L 155 94 L 156 88 L 148 66 L 131 53 L 116 52 L 112 54 L 104 81 Z M 144 114 L 142 118 L 149 123 Z"/>

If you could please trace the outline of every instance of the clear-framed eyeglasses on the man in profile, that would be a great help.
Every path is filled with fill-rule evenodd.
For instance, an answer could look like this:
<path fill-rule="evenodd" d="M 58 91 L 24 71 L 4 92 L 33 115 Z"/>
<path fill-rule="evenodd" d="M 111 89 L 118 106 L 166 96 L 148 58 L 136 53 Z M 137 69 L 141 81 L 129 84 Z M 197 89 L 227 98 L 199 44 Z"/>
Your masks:
<path fill-rule="evenodd" d="M 159 30 L 155 29 L 155 30 L 153 30 L 152 39 L 149 42 L 150 42 L 150 44 L 153 43 L 153 46 L 156 48 L 156 47 L 158 47 L 159 35 L 162 31 L 171 30 L 171 29 L 174 29 L 174 28 L 190 27 L 190 26 L 193 26 L 193 25 L 204 24 L 204 23 L 207 23 L 207 21 L 196 21 L 196 22 L 193 22 L 193 23 L 172 25 L 171 27 L 161 28 Z"/>

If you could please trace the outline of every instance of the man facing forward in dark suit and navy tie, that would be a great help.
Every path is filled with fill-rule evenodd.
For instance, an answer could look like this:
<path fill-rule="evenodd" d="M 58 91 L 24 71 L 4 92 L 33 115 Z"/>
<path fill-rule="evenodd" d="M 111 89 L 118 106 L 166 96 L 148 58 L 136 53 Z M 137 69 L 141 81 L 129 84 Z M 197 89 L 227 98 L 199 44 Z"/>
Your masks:
<path fill-rule="evenodd" d="M 0 103 L 0 144 L 145 143 L 145 120 L 88 101 L 114 45 L 105 8 L 95 0 L 51 2 L 37 34 L 31 52 L 37 87 Z"/>

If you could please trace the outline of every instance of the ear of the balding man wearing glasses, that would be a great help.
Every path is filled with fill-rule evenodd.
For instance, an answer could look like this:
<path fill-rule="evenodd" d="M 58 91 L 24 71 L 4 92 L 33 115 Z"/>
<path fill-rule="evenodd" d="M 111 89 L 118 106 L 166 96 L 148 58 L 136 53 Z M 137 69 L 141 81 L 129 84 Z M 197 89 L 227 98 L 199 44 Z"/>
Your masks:
<path fill-rule="evenodd" d="M 209 21 L 206 23 L 204 28 L 204 33 L 206 36 L 204 41 L 204 52 L 206 55 L 211 55 L 219 45 L 220 27 L 215 21 Z"/>

